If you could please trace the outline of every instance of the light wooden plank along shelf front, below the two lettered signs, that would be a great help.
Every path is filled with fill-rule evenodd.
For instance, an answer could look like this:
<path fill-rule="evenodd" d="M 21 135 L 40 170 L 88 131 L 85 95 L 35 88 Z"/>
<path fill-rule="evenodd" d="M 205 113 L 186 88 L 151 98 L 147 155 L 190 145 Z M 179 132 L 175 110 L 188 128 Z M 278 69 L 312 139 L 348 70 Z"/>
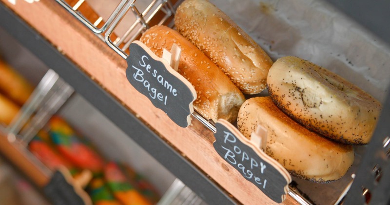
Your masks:
<path fill-rule="evenodd" d="M 133 111 L 192 163 L 243 204 L 275 204 L 254 184 L 245 180 L 215 152 L 214 136 L 193 120 L 188 128 L 174 124 L 164 112 L 135 90 L 125 76 L 126 62 L 55 1 L 16 5 L 1 0 L 75 62 L 93 80 Z M 50 20 L 50 21 L 48 21 Z M 296 204 L 287 196 L 285 204 Z"/>

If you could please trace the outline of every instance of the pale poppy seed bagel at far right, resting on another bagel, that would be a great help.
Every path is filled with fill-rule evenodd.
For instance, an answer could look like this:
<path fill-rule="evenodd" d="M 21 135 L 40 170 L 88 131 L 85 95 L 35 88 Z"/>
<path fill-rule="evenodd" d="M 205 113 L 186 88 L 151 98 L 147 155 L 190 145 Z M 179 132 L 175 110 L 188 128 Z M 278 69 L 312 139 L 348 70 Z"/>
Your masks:
<path fill-rule="evenodd" d="M 306 128 L 341 143 L 369 143 L 381 104 L 351 82 L 289 56 L 273 64 L 267 83 L 273 102 Z"/>

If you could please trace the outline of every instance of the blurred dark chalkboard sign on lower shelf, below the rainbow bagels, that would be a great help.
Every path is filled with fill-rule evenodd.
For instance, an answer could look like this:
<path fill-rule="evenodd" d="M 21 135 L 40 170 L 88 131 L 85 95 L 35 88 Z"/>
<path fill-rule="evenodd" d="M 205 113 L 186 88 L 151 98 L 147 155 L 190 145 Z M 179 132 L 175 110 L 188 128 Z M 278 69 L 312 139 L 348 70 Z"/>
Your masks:
<path fill-rule="evenodd" d="M 81 187 L 75 187 L 70 173 L 56 171 L 43 192 L 54 205 L 90 205 L 91 199 Z"/>

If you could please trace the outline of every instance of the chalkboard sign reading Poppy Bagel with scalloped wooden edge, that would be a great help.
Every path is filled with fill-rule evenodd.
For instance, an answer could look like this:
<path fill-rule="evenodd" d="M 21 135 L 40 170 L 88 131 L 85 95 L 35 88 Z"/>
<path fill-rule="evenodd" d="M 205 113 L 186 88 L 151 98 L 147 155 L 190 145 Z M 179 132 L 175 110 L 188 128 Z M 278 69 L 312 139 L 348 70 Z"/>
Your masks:
<path fill-rule="evenodd" d="M 216 152 L 274 202 L 282 203 L 292 181 L 287 170 L 246 139 L 231 123 L 219 119 L 215 127 L 213 145 Z"/>

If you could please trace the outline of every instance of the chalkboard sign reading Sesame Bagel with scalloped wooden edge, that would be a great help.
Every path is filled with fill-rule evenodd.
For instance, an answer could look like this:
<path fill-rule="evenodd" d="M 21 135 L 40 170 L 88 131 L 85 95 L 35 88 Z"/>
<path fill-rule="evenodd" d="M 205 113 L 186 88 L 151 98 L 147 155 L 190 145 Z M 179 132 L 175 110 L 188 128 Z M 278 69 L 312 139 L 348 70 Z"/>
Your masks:
<path fill-rule="evenodd" d="M 194 112 L 192 103 L 196 99 L 191 83 L 140 41 L 130 44 L 130 56 L 126 61 L 127 79 L 138 92 L 148 97 L 177 125 L 190 125 L 190 115 Z"/>

